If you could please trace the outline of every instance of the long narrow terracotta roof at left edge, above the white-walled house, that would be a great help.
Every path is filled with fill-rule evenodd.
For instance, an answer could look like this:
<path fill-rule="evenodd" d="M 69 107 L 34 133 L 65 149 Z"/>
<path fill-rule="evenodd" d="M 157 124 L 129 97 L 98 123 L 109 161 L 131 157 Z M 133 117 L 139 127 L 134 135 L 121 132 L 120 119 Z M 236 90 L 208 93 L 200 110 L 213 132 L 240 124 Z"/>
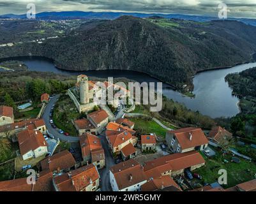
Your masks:
<path fill-rule="evenodd" d="M 20 129 L 20 128 L 25 128 L 26 126 L 29 126 L 29 129 L 36 129 L 41 126 L 45 126 L 45 122 L 43 119 L 22 120 L 20 122 L 15 122 L 13 124 L 0 126 L 0 133 L 3 133 L 4 131 L 6 131 L 6 129 L 8 130 Z"/>

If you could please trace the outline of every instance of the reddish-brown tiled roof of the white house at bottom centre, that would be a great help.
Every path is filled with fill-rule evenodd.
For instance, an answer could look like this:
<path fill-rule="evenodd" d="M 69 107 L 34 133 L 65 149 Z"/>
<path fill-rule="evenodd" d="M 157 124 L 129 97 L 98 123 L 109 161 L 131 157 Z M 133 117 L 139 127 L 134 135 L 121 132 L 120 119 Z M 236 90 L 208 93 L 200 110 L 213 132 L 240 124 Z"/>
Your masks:
<path fill-rule="evenodd" d="M 142 166 L 134 159 L 116 164 L 110 168 L 110 171 L 116 179 L 119 190 L 147 180 Z"/>

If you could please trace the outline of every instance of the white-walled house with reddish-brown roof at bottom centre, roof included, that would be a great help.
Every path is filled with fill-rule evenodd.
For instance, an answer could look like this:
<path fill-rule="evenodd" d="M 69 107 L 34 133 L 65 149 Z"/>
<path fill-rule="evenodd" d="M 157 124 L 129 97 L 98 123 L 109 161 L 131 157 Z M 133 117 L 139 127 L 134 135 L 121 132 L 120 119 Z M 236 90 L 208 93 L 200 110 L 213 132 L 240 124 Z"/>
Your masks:
<path fill-rule="evenodd" d="M 147 182 L 143 167 L 134 159 L 112 166 L 109 178 L 113 191 L 140 191 Z"/>

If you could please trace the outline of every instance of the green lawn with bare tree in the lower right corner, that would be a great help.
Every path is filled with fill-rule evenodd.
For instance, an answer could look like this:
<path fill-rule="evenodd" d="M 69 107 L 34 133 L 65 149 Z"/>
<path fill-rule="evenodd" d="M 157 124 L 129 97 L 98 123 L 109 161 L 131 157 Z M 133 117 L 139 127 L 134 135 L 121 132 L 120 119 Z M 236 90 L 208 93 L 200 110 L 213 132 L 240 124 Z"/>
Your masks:
<path fill-rule="evenodd" d="M 255 179 L 254 175 L 256 173 L 255 163 L 247 161 L 239 157 L 241 163 L 230 162 L 232 155 L 222 156 L 220 152 L 216 152 L 216 157 L 213 159 L 206 159 L 206 166 L 195 170 L 195 172 L 202 175 L 204 182 L 213 183 L 218 180 L 218 171 L 220 169 L 227 170 L 227 185 L 223 186 L 225 188 L 236 186 L 242 182 Z M 223 163 L 223 159 L 229 161 L 229 163 Z"/>

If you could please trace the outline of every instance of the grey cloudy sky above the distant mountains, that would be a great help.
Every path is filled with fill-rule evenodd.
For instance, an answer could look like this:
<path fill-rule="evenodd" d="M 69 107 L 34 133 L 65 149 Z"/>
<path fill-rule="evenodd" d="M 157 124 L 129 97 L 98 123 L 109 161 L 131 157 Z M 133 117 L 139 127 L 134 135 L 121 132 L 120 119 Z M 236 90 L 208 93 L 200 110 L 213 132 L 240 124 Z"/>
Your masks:
<path fill-rule="evenodd" d="M 228 6 L 229 17 L 256 18 L 256 0 L 0 0 L 0 15 L 26 13 L 27 4 L 41 11 L 125 11 L 218 15 L 218 4 Z"/>

